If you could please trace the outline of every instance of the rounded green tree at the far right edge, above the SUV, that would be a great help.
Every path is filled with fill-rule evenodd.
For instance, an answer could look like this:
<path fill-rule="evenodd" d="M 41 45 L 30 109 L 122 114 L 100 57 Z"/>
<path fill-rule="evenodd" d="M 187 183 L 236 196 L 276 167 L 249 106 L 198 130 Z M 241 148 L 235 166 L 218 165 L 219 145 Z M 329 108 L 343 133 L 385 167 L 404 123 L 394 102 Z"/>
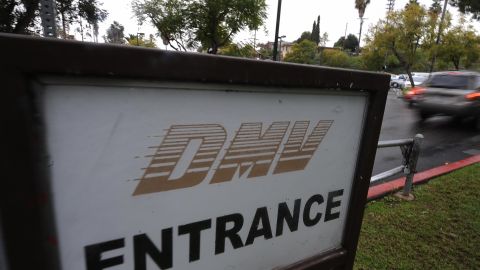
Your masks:
<path fill-rule="evenodd" d="M 465 20 L 461 20 L 458 26 L 445 34 L 438 52 L 438 56 L 445 62 L 451 62 L 456 70 L 460 69 L 462 62 L 465 68 L 470 68 L 480 58 L 480 37 L 473 26 L 464 25 Z"/>

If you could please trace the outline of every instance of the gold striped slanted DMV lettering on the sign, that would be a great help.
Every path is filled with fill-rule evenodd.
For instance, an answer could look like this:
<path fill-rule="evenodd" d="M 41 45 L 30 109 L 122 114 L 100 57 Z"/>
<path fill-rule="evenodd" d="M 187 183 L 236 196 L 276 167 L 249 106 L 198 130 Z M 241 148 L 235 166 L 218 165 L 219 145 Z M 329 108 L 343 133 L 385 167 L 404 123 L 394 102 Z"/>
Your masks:
<path fill-rule="evenodd" d="M 307 136 L 310 121 L 296 121 L 273 169 L 273 174 L 301 171 L 307 166 L 333 120 L 321 120 Z M 220 163 L 214 169 L 210 184 L 231 181 L 237 171 L 247 178 L 268 174 L 275 155 L 284 141 L 290 122 L 273 122 L 262 135 L 262 123 L 242 123 Z M 218 124 L 172 125 L 152 156 L 133 196 L 192 187 L 200 184 L 212 169 L 227 138 Z M 184 174 L 171 174 L 192 140 L 200 146 Z"/>

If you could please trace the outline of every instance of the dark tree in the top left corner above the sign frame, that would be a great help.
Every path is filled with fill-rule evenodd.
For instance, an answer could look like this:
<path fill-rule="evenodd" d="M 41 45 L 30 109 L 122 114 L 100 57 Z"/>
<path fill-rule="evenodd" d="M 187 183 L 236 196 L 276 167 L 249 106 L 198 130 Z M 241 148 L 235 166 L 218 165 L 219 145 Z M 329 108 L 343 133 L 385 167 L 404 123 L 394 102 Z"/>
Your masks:
<path fill-rule="evenodd" d="M 0 32 L 30 34 L 40 0 L 0 0 Z"/>

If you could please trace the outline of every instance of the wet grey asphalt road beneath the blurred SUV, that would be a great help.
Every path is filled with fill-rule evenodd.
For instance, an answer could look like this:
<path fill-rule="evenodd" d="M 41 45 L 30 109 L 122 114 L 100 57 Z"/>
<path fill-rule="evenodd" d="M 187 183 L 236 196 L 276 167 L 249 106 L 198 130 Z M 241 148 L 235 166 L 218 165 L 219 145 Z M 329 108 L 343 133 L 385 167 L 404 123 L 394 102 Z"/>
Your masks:
<path fill-rule="evenodd" d="M 407 107 L 394 91 L 390 91 L 383 117 L 380 140 L 412 138 L 421 133 L 425 137 L 421 147 L 417 171 L 451 163 L 480 154 L 480 132 L 468 120 L 454 121 L 451 117 L 436 116 L 420 122 L 416 111 Z M 399 147 L 377 151 L 373 175 L 401 165 Z M 397 175 L 397 178 L 402 176 Z"/>

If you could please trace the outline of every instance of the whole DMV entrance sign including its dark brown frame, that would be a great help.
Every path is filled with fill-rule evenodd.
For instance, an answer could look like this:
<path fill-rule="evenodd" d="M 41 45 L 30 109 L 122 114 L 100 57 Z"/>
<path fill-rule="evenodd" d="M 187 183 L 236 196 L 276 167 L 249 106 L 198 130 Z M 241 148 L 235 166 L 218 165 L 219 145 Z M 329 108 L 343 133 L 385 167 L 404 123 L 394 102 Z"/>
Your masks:
<path fill-rule="evenodd" d="M 8 269 L 352 267 L 388 76 L 0 41 Z"/>

